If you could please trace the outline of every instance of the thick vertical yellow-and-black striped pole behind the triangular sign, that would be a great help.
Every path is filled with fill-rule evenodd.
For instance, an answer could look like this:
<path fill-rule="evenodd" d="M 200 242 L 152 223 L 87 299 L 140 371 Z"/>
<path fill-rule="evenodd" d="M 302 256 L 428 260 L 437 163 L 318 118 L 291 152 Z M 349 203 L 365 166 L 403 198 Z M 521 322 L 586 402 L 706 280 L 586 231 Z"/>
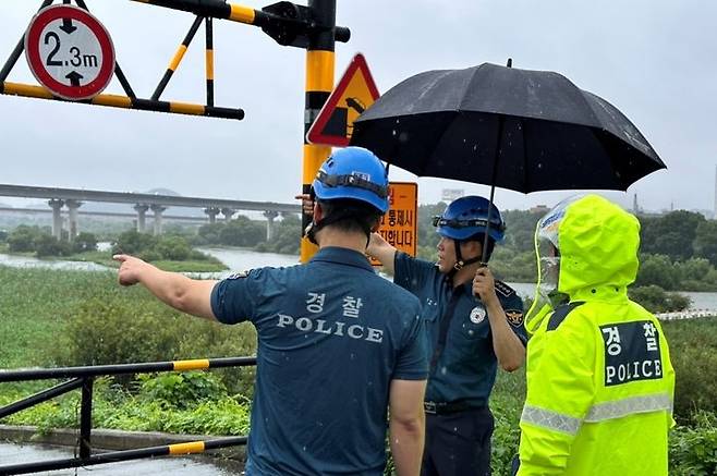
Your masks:
<path fill-rule="evenodd" d="M 306 48 L 306 98 L 304 103 L 304 160 L 302 168 L 302 192 L 308 194 L 312 182 L 321 162 L 331 154 L 331 147 L 308 144 L 306 134 L 321 107 L 333 89 L 336 0 L 309 0 L 308 8 L 313 11 L 317 23 L 327 26 L 326 29 L 309 35 Z M 311 223 L 311 217 L 302 215 L 302 229 Z M 316 253 L 306 236 L 301 240 L 301 261 L 306 263 Z"/>

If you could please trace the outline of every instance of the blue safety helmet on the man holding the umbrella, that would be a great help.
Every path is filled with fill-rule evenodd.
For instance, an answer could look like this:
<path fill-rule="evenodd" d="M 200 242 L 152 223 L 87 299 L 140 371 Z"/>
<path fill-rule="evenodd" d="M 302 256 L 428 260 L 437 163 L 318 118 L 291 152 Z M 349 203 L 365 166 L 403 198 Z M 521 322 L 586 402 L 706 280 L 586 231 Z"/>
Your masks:
<path fill-rule="evenodd" d="M 487 199 L 476 195 L 458 198 L 446 207 L 443 213 L 434 217 L 434 227 L 438 234 L 453 240 L 470 237 L 483 240 L 488 222 L 488 206 L 490 206 L 490 228 L 488 236 L 500 242 L 506 233 L 506 223 L 498 207 Z"/>

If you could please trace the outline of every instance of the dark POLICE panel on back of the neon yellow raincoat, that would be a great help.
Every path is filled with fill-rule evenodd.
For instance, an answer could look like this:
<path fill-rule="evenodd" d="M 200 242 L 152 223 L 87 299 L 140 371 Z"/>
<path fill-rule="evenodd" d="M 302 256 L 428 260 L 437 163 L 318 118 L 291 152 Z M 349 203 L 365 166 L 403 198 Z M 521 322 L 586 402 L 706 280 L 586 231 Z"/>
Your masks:
<path fill-rule="evenodd" d="M 605 387 L 663 378 L 659 331 L 648 320 L 600 326 Z"/>

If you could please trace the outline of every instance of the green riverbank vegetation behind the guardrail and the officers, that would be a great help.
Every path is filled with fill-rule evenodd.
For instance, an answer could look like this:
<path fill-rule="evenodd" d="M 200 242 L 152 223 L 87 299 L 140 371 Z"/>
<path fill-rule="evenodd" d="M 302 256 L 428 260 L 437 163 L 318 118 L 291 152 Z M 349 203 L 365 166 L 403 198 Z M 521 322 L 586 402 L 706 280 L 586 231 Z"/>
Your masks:
<path fill-rule="evenodd" d="M 253 355 L 251 325 L 221 326 L 177 313 L 112 272 L 0 266 L 0 367 L 56 367 Z M 717 465 L 717 326 L 715 318 L 664 322 L 677 371 L 671 431 L 672 475 L 709 475 Z M 254 368 L 99 379 L 95 427 L 178 434 L 245 435 Z M 0 405 L 54 382 L 0 383 Z M 518 449 L 525 396 L 522 370 L 500 373 L 495 474 L 508 474 Z M 78 392 L 23 411 L 3 423 L 47 430 L 76 427 Z"/>

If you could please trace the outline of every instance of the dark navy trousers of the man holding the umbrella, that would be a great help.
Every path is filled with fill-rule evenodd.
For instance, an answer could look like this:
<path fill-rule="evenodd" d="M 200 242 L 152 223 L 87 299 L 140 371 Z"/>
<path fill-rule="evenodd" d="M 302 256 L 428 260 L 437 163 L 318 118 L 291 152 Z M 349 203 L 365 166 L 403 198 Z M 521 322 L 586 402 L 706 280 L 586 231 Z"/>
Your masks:
<path fill-rule="evenodd" d="M 487 406 L 443 415 L 427 413 L 421 475 L 489 476 L 493 428 Z"/>

